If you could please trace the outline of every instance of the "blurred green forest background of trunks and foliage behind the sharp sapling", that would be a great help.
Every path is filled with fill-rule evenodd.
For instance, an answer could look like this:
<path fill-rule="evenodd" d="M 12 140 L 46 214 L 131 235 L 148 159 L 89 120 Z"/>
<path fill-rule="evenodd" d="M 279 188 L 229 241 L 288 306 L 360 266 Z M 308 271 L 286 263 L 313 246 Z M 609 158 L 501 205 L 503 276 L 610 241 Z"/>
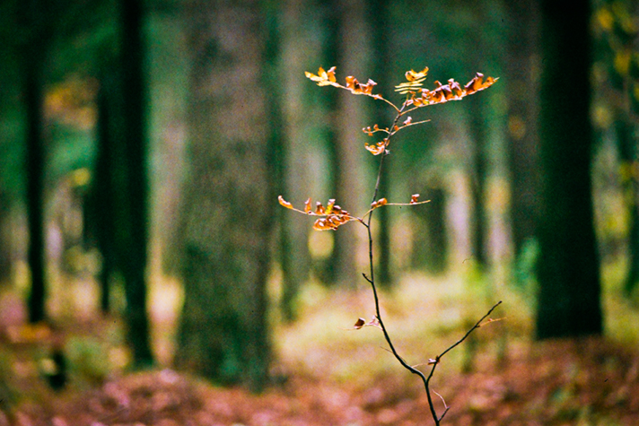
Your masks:
<path fill-rule="evenodd" d="M 392 111 L 304 77 L 333 65 L 338 81 L 372 78 L 396 103 L 410 69 L 428 66 L 429 88 L 499 77 L 416 111 L 430 122 L 391 147 L 381 196 L 431 200 L 373 219 L 382 307 L 407 358 L 425 362 L 504 300 L 506 320 L 464 343 L 451 373 L 489 364 L 507 380 L 508 360 L 521 371 L 591 353 L 613 388 L 571 358 L 540 377 L 567 369 L 573 381 L 520 414 L 636 424 L 639 4 L 584 3 L 565 14 L 568 3 L 532 0 L 4 0 L 0 424 L 50 417 L 59 392 L 165 368 L 254 391 L 381 380 L 392 393 L 356 401 L 379 414 L 371 422 L 408 419 L 398 407 L 418 390 L 381 335 L 343 330 L 374 312 L 364 229 L 313 231 L 277 204 L 336 198 L 362 214 L 372 201 L 378 162 L 362 128 L 389 126 Z M 530 347 L 555 354 L 531 361 Z M 464 377 L 479 395 L 493 383 Z M 439 383 L 447 401 L 463 394 L 454 380 Z M 600 394 L 584 402 L 591 387 Z M 539 401 L 517 392 L 458 404 L 451 424 Z"/>

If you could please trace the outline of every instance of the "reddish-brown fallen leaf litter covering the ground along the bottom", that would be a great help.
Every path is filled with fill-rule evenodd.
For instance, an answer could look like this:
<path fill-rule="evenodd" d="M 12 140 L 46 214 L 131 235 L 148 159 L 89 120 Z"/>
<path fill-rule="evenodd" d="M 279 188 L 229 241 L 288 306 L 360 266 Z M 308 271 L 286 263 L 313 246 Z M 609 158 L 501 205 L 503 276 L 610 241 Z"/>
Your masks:
<path fill-rule="evenodd" d="M 450 425 L 637 425 L 639 355 L 606 340 L 535 343 L 502 365 L 440 380 Z M 15 425 L 433 424 L 419 387 L 389 374 L 366 389 L 295 375 L 261 395 L 224 389 L 171 369 L 131 374 L 82 393 L 24 403 Z"/>

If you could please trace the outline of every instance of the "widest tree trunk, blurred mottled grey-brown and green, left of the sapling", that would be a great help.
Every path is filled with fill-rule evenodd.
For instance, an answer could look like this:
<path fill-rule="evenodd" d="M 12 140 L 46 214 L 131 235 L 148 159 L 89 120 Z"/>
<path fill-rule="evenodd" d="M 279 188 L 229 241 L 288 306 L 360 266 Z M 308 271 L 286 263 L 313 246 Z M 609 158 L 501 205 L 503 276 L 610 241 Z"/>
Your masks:
<path fill-rule="evenodd" d="M 271 353 L 266 282 L 276 205 L 260 9 L 258 1 L 196 4 L 176 363 L 218 383 L 260 389 Z"/>

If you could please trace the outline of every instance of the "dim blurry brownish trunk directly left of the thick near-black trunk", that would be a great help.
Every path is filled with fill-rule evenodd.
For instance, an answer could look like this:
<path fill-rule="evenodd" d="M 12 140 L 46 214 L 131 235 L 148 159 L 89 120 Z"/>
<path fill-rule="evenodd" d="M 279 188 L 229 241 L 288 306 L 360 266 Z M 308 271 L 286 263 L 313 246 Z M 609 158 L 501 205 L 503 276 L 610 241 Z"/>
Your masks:
<path fill-rule="evenodd" d="M 511 230 L 515 258 L 535 236 L 538 216 L 538 6 L 533 0 L 503 2 L 508 14 L 508 132 Z"/>

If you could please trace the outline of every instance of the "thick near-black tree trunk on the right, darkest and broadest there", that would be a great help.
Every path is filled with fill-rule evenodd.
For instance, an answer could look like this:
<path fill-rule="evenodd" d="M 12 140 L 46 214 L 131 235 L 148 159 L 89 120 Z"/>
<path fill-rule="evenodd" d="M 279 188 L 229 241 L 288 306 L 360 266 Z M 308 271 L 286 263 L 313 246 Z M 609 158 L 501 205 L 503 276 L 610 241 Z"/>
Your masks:
<path fill-rule="evenodd" d="M 602 331 L 590 173 L 590 18 L 588 2 L 541 2 L 540 339 Z M 570 96 L 557 90 L 566 78 L 575 88 Z"/>

